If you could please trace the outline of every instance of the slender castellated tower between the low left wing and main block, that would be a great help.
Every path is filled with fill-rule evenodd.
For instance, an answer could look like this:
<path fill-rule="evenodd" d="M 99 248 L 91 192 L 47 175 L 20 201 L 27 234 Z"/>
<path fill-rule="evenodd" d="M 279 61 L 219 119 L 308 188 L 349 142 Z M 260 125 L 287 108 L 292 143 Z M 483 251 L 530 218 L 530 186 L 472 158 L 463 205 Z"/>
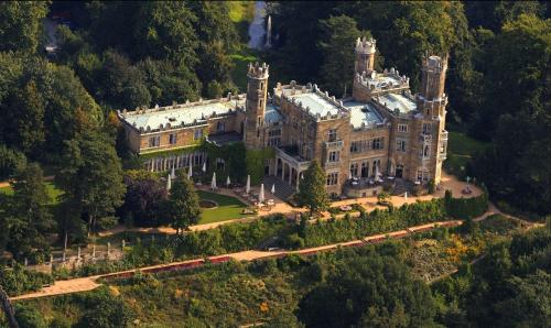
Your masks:
<path fill-rule="evenodd" d="M 264 146 L 264 111 L 268 96 L 268 72 L 270 66 L 263 63 L 249 64 L 247 73 L 247 102 L 244 141 L 247 147 Z"/>

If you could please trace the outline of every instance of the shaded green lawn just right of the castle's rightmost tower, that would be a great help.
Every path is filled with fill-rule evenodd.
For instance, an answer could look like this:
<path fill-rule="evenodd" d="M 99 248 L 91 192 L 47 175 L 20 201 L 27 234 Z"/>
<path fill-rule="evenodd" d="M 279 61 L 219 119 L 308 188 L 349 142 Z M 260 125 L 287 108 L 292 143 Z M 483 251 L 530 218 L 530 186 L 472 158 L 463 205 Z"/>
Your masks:
<path fill-rule="evenodd" d="M 460 179 L 464 179 L 468 174 L 467 167 L 473 156 L 482 153 L 487 146 L 487 143 L 473 139 L 465 133 L 450 131 L 447 160 L 444 162 L 445 171 Z"/>

